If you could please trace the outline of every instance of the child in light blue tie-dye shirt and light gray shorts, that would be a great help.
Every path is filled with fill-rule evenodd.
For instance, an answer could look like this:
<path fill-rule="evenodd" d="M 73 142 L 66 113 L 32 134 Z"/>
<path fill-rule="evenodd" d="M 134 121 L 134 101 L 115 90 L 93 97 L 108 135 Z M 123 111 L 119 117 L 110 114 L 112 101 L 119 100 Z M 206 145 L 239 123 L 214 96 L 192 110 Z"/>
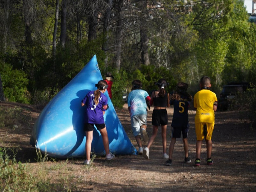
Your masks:
<path fill-rule="evenodd" d="M 147 103 L 149 105 L 150 97 L 145 90 L 142 90 L 142 83 L 140 80 L 132 82 L 132 89 L 128 95 L 128 110 L 131 117 L 131 128 L 135 140 L 139 146 L 139 154 L 143 153 L 142 142 L 140 136 L 143 137 L 144 142 L 148 142 L 147 128 Z"/>

